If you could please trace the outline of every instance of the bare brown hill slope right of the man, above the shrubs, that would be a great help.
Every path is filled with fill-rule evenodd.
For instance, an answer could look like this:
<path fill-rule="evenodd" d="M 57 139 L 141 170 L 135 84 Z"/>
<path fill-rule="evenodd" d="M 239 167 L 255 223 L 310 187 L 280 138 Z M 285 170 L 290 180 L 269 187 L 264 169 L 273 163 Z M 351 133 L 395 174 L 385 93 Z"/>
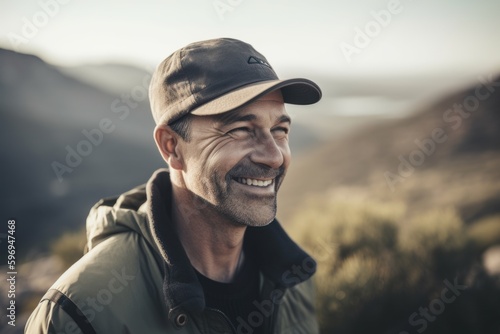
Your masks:
<path fill-rule="evenodd" d="M 401 200 L 410 214 L 451 206 L 466 222 L 500 212 L 500 78 L 407 118 L 365 127 L 298 157 L 281 190 L 290 219 L 324 196 Z"/>

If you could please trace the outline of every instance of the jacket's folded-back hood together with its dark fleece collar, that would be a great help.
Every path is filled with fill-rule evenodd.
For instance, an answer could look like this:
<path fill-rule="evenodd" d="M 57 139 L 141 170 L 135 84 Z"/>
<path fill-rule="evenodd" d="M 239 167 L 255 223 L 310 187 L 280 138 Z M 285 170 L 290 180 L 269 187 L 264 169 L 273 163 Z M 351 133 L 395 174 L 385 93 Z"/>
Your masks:
<path fill-rule="evenodd" d="M 163 292 L 169 318 L 183 309 L 205 308 L 202 287 L 175 233 L 170 218 L 172 186 L 167 169 L 157 170 L 147 184 L 119 197 L 105 198 L 87 219 L 87 251 L 117 233 L 138 233 L 151 245 L 163 266 Z M 295 244 L 277 220 L 265 227 L 248 227 L 246 241 L 262 274 L 276 286 L 289 288 L 309 279 L 316 262 Z M 300 275 L 297 268 L 302 268 Z"/>

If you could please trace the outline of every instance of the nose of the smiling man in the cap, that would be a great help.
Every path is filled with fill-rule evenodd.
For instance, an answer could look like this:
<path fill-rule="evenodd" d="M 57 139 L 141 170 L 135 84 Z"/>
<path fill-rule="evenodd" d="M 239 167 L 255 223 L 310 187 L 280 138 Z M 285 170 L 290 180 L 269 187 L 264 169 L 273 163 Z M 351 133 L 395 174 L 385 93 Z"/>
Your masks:
<path fill-rule="evenodd" d="M 282 148 L 276 143 L 275 138 L 270 132 L 262 133 L 257 137 L 250 159 L 256 164 L 266 165 L 274 169 L 280 168 L 283 165 L 284 157 Z"/>

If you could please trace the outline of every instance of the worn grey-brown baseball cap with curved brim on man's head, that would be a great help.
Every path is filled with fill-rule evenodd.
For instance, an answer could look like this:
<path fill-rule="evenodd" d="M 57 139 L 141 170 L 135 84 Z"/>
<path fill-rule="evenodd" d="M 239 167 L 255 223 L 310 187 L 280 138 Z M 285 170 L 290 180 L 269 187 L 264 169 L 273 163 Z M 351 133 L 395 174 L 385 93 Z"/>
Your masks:
<path fill-rule="evenodd" d="M 156 124 L 170 124 L 189 113 L 222 114 L 277 89 L 285 103 L 321 99 L 321 89 L 311 80 L 280 80 L 250 44 L 219 38 L 191 43 L 163 60 L 151 79 L 149 98 Z"/>

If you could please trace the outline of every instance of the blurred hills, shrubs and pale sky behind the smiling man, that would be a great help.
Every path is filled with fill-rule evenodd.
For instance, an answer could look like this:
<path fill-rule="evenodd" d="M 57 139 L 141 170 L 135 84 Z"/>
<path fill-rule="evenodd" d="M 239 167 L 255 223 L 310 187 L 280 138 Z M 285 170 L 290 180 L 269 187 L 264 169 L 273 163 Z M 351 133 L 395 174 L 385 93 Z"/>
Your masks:
<path fill-rule="evenodd" d="M 0 332 L 22 333 L 82 255 L 90 207 L 164 166 L 156 65 L 232 37 L 323 89 L 288 107 L 278 205 L 318 260 L 322 333 L 500 333 L 499 15 L 495 0 L 1 1 L 0 264 L 15 219 L 18 276 Z"/>

